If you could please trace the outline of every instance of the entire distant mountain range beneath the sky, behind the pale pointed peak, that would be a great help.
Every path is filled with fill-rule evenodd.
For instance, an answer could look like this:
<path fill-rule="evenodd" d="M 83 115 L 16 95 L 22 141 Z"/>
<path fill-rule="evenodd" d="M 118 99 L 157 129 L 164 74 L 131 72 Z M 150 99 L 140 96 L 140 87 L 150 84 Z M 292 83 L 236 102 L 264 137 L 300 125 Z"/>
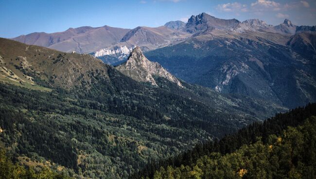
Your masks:
<path fill-rule="evenodd" d="M 75 40 L 79 53 L 112 65 L 126 61 L 139 46 L 150 60 L 186 82 L 296 107 L 316 101 L 315 36 L 315 26 L 297 26 L 288 19 L 273 26 L 259 19 L 241 22 L 201 13 L 187 23 L 170 21 L 157 28 L 80 27 L 13 39 L 65 52 L 79 48 L 62 45 Z"/>

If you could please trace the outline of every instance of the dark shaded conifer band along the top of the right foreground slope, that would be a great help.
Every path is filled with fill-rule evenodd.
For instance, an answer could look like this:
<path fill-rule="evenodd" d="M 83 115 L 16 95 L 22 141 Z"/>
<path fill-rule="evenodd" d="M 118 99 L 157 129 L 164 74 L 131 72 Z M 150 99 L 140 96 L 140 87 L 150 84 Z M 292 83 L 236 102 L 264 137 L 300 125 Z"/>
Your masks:
<path fill-rule="evenodd" d="M 305 119 L 316 115 L 316 103 L 308 104 L 306 107 L 298 107 L 283 114 L 277 114 L 275 117 L 269 118 L 262 122 L 256 122 L 248 125 L 238 132 L 227 135 L 221 140 L 197 144 L 193 150 L 189 150 L 181 155 L 162 161 L 151 161 L 139 173 L 131 176 L 131 179 L 141 177 L 153 178 L 155 171 L 162 168 L 180 167 L 181 165 L 191 166 L 203 156 L 210 156 L 211 153 L 219 153 L 225 155 L 232 153 L 241 146 L 250 143 L 262 141 L 267 143 L 269 135 L 281 135 L 282 130 L 288 126 L 301 125 Z"/>

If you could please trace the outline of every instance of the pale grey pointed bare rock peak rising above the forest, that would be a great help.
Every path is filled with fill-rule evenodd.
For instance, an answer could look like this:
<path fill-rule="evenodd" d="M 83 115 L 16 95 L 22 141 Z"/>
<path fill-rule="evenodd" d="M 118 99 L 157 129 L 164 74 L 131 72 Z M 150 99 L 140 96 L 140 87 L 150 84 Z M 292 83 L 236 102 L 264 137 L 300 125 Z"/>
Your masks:
<path fill-rule="evenodd" d="M 128 60 L 116 67 L 116 69 L 136 81 L 150 82 L 154 86 L 158 86 L 153 77 L 157 75 L 176 83 L 179 87 L 183 87 L 179 80 L 162 68 L 159 63 L 149 61 L 145 55 L 142 54 L 140 47 L 134 48 Z"/>

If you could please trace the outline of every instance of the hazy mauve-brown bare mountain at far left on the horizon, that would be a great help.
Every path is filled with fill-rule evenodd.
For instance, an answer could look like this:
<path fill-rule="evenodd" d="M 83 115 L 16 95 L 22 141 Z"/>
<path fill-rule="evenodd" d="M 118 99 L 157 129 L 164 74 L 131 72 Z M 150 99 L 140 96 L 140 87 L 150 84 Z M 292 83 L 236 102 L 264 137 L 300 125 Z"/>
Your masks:
<path fill-rule="evenodd" d="M 103 27 L 69 28 L 52 34 L 32 33 L 12 38 L 13 40 L 49 47 L 63 52 L 91 53 L 119 42 L 129 29 Z"/>

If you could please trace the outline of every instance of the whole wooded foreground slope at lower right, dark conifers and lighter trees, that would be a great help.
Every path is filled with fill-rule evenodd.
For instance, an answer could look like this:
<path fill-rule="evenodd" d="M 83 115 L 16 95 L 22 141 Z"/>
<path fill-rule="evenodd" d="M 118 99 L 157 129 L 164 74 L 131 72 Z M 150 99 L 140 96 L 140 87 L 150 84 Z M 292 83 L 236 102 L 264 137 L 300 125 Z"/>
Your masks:
<path fill-rule="evenodd" d="M 315 178 L 315 115 L 316 104 L 277 114 L 177 157 L 151 162 L 132 178 Z"/>

